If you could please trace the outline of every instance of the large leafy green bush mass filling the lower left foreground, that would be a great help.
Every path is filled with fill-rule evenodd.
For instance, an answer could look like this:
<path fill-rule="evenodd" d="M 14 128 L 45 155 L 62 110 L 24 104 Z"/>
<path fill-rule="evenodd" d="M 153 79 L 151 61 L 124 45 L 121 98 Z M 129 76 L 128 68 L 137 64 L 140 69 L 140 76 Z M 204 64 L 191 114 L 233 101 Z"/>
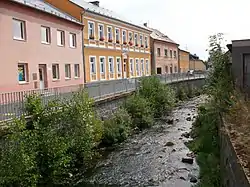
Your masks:
<path fill-rule="evenodd" d="M 84 92 L 70 101 L 50 102 L 29 97 L 26 108 L 32 121 L 17 120 L 12 133 L 2 141 L 0 185 L 65 185 L 79 180 L 101 141 L 103 124 L 93 111 L 93 101 Z M 80 176 L 79 176 L 80 177 Z"/>

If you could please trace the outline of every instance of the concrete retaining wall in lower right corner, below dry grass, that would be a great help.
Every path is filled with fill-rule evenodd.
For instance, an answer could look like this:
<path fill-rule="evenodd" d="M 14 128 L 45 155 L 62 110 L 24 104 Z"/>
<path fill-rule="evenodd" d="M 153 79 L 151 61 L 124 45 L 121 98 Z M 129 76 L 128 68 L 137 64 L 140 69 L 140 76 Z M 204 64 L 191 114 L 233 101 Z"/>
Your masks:
<path fill-rule="evenodd" d="M 222 187 L 250 187 L 242 165 L 229 139 L 223 121 L 220 124 L 220 167 Z"/>

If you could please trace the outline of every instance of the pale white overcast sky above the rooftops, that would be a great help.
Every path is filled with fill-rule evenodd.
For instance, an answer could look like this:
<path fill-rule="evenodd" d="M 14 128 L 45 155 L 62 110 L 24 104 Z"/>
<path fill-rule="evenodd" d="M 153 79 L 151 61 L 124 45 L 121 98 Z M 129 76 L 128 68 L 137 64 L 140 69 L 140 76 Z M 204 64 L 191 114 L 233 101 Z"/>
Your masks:
<path fill-rule="evenodd" d="M 224 33 L 228 43 L 250 38 L 249 0 L 100 0 L 100 6 L 147 22 L 204 60 L 212 34 Z"/>

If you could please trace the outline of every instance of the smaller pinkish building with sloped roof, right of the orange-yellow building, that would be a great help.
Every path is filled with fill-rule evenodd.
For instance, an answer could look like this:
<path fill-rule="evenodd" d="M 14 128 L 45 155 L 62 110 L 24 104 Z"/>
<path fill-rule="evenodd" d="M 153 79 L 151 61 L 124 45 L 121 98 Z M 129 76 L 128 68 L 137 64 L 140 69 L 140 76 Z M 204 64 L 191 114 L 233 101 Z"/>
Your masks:
<path fill-rule="evenodd" d="M 156 74 L 172 74 L 179 72 L 179 44 L 170 39 L 162 32 L 144 26 L 152 31 L 151 44 L 151 67 Z"/>

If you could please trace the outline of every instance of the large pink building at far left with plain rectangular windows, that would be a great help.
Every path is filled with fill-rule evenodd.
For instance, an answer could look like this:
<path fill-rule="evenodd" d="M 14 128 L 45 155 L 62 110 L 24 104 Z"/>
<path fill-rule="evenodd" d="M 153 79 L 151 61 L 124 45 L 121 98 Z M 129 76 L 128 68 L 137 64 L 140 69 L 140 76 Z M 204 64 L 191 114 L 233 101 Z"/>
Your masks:
<path fill-rule="evenodd" d="M 42 0 L 0 1 L 0 93 L 83 84 L 82 29 Z"/>

